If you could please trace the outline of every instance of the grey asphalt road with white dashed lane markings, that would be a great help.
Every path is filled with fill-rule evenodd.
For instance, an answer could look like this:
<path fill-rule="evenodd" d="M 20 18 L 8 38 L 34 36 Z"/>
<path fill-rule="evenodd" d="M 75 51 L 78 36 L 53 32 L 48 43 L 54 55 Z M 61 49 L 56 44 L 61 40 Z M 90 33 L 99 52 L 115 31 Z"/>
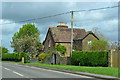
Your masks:
<path fill-rule="evenodd" d="M 2 63 L 2 78 L 86 78 L 92 77 L 36 68 L 14 63 Z"/>

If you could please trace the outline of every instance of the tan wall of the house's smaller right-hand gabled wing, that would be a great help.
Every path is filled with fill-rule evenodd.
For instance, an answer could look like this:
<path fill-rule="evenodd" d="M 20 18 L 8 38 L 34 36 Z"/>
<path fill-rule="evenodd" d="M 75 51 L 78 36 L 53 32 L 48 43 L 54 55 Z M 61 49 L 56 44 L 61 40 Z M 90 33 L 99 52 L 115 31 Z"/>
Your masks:
<path fill-rule="evenodd" d="M 83 51 L 88 51 L 88 41 L 89 40 L 97 40 L 92 34 L 89 34 L 85 39 L 82 40 L 82 50 Z"/>

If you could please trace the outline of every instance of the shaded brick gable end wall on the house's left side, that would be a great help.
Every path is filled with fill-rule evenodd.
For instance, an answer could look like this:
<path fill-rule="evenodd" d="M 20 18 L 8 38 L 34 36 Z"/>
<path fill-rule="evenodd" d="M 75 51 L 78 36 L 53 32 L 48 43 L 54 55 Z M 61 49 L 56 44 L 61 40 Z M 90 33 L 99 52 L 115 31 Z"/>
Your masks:
<path fill-rule="evenodd" d="M 49 40 L 51 40 L 50 41 L 50 47 L 49 47 Z M 55 43 L 53 41 L 51 32 L 49 31 L 48 35 L 47 35 L 47 38 L 46 38 L 46 41 L 44 43 L 44 51 L 45 51 L 45 53 L 48 53 L 48 52 L 50 52 L 50 51 L 52 51 L 54 49 L 55 49 Z"/>

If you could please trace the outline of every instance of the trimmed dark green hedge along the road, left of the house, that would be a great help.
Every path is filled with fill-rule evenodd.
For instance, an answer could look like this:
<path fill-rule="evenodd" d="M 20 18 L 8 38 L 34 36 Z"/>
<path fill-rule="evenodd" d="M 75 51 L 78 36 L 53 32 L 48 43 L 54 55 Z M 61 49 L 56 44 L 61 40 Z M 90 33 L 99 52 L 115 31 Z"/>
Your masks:
<path fill-rule="evenodd" d="M 26 53 L 4 53 L 2 54 L 2 61 L 22 61 L 22 57 L 24 57 L 25 63 L 30 62 L 30 58 Z"/>

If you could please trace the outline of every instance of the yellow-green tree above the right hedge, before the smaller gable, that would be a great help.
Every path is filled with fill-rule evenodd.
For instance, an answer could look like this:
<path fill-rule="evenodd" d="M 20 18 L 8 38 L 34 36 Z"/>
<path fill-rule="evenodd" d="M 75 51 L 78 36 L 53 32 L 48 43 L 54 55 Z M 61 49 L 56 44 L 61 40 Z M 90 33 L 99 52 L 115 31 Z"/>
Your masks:
<path fill-rule="evenodd" d="M 92 40 L 89 44 L 89 48 L 91 51 L 103 51 L 108 50 L 109 44 L 106 40 Z"/>

